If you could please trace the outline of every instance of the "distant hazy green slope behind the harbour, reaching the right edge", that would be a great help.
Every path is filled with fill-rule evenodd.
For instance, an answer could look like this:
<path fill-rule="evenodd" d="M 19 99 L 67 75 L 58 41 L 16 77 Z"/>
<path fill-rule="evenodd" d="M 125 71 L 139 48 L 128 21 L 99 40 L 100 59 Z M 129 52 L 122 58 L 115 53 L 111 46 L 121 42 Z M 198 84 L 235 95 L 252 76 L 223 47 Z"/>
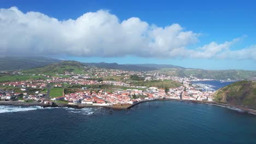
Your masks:
<path fill-rule="evenodd" d="M 256 71 L 251 70 L 202 70 L 202 69 L 161 69 L 161 74 L 178 77 L 194 76 L 199 79 L 255 80 Z"/>

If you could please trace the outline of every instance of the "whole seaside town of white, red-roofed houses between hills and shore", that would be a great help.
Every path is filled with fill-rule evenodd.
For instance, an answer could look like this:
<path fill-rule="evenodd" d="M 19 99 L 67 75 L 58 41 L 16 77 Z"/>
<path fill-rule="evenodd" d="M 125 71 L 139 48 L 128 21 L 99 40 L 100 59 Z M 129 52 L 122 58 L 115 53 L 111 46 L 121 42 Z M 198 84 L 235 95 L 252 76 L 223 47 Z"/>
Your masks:
<path fill-rule="evenodd" d="M 0 83 L 1 86 L 15 87 L 16 91 L 0 89 L 1 101 L 32 101 L 44 105 L 62 103 L 84 106 L 133 105 L 142 101 L 155 99 L 213 101 L 213 89 L 202 89 L 207 86 L 194 85 L 196 77 L 166 76 L 157 72 L 136 72 L 102 68 L 86 68 L 87 74 L 56 74 L 54 76 L 38 74 L 44 79 L 11 81 Z M 25 75 L 20 71 L 9 73 Z M 36 74 L 30 74 L 36 76 Z M 120 81 L 112 77 L 121 77 Z M 132 76 L 143 78 L 143 81 L 174 81 L 178 87 L 156 87 L 133 85 Z M 69 87 L 68 87 L 69 86 Z M 70 87 L 71 86 L 71 87 Z M 74 87 L 72 87 L 74 86 Z M 108 91 L 107 86 L 113 87 Z M 55 95 L 54 89 L 61 95 Z M 68 91 L 69 90 L 69 91 Z"/>

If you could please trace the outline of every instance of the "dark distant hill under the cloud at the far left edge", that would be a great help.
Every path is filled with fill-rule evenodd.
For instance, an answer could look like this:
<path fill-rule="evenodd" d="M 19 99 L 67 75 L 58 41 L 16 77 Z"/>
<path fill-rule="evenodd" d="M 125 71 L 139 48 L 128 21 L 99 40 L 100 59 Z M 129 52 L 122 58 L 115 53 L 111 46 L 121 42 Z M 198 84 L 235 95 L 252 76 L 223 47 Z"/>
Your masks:
<path fill-rule="evenodd" d="M 61 60 L 49 57 L 0 57 L 0 70 L 25 70 L 57 62 Z"/>

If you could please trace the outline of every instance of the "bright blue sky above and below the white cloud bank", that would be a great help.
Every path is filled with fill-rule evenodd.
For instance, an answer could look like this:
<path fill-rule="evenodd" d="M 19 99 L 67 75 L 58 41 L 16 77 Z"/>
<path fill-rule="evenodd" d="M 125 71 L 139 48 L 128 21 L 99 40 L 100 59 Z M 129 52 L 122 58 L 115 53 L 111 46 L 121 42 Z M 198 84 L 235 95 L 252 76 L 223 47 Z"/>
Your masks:
<path fill-rule="evenodd" d="M 68 19 L 76 20 L 82 15 L 93 12 L 97 13 L 98 10 L 103 10 L 106 12 L 106 19 L 111 16 L 117 17 L 118 21 L 121 23 L 125 20 L 129 20 L 131 17 L 139 18 L 138 23 L 146 22 L 148 27 L 143 34 L 153 33 L 152 27 L 165 28 L 172 26 L 177 23 L 179 27 L 182 28 L 182 32 L 189 31 L 193 32 L 195 35 L 190 35 L 187 41 L 182 41 L 181 44 L 173 44 L 167 41 L 164 47 L 153 46 L 148 48 L 153 54 L 147 55 L 147 49 L 143 48 L 142 51 L 138 53 L 131 52 L 129 50 L 120 51 L 120 53 L 125 53 L 125 55 L 119 55 L 119 53 L 107 51 L 111 49 L 111 45 L 106 46 L 106 48 L 101 48 L 99 50 L 105 53 L 97 56 L 95 53 L 98 45 L 88 44 L 89 50 L 78 50 L 76 53 L 69 51 L 63 51 L 60 55 L 49 53 L 42 50 L 45 45 L 38 46 L 38 50 L 33 50 L 34 45 L 30 45 L 31 49 L 25 49 L 25 51 L 35 51 L 33 55 L 43 55 L 56 57 L 61 59 L 71 59 L 75 61 L 82 62 L 117 62 L 117 63 L 156 63 L 156 64 L 174 64 L 183 67 L 190 68 L 202 68 L 202 69 L 248 69 L 256 70 L 256 56 L 252 53 L 256 50 L 256 2 L 254 1 L 1 1 L 0 8 L 10 9 L 10 7 L 16 7 L 19 11 L 26 14 L 28 11 L 36 11 L 44 14 L 48 17 L 54 17 L 58 21 L 67 21 Z M 98 16 L 98 13 L 96 14 Z M 38 17 L 37 17 L 38 18 Z M 109 18 L 110 19 L 110 18 Z M 106 22 L 106 21 L 105 21 Z M 108 21 L 107 21 L 108 22 Z M 136 25 L 137 26 L 137 25 Z M 141 25 L 139 25 L 141 26 Z M 146 26 L 143 26 L 143 28 Z M 111 28 L 111 27 L 110 27 Z M 135 27 L 136 28 L 136 27 Z M 142 28 L 142 29 L 143 29 Z M 166 29 L 164 29 L 166 30 Z M 136 31 L 141 31 L 141 29 L 136 29 Z M 102 32 L 102 31 L 100 31 Z M 99 33 L 100 33 L 99 32 Z M 115 32 L 115 31 L 113 31 Z M 117 30 L 118 32 L 118 30 Z M 150 37 L 154 41 L 161 35 L 166 35 L 166 37 L 174 37 L 173 35 L 168 35 L 167 31 L 158 33 Z M 176 32 L 176 31 L 175 31 Z M 94 32 L 96 33 L 96 32 Z M 38 33 L 37 33 L 38 34 Z M 37 35 L 33 34 L 33 35 Z M 17 35 L 16 33 L 14 35 Z M 120 34 L 123 37 L 122 34 Z M 160 36 L 159 36 L 160 35 Z M 42 38 L 42 35 L 37 35 L 38 39 Z M 111 36 L 111 35 L 110 35 Z M 127 35 L 126 35 L 127 36 Z M 125 37 L 126 37 L 125 36 Z M 111 36 L 112 37 L 112 36 Z M 81 38 L 83 38 L 81 36 Z M 99 39 L 106 39 L 102 37 L 96 37 Z M 187 38 L 187 37 L 186 37 Z M 45 39 L 45 38 L 43 38 Z M 87 38 L 86 38 L 87 39 Z M 183 39 L 183 38 L 182 38 Z M 193 40 L 191 40 L 193 39 Z M 231 42 L 234 39 L 239 39 L 234 43 Z M 87 39 L 88 40 L 88 39 Z M 171 41 L 179 41 L 180 39 L 168 39 Z M 7 41 L 7 40 L 6 40 Z M 5 51 L 9 52 L 9 49 L 16 49 L 14 45 L 8 45 L 8 41 L 4 42 Z M 90 40 L 91 41 L 91 40 Z M 118 40 L 117 40 L 118 41 Z M 222 46 L 228 41 L 232 44 L 228 46 Z M 98 43 L 98 41 L 96 41 Z M 95 43 L 96 43 L 95 42 Z M 152 41 L 151 41 L 152 42 Z M 216 52 L 216 54 L 211 55 L 213 51 L 200 51 L 203 46 L 206 45 L 205 49 L 217 49 L 210 47 L 211 43 L 215 43 L 215 47 L 223 47 L 222 50 Z M 32 43 L 30 41 L 30 43 Z M 33 41 L 33 44 L 35 42 Z M 57 42 L 55 42 L 57 43 Z M 60 43 L 60 42 L 59 42 Z M 113 45 L 117 42 L 113 42 Z M 23 44 L 23 43 L 22 43 Z M 84 43 L 83 43 L 84 44 Z M 87 43 L 86 43 L 87 44 Z M 108 45 L 103 44 L 104 45 Z M 57 45 L 57 44 L 54 44 Z M 82 44 L 81 44 L 82 45 Z M 138 45 L 138 47 L 136 47 Z M 62 45 L 57 45 L 62 46 Z M 80 45 L 79 45 L 80 46 Z M 75 49 L 79 46 L 75 44 L 71 47 Z M 120 45 L 119 45 L 120 46 Z M 124 46 L 126 48 L 119 49 L 129 49 L 130 45 Z M 136 47 L 137 50 L 143 47 L 141 43 L 131 45 Z M 14 48 L 13 48 L 14 47 Z M 113 46 L 114 47 L 114 46 Z M 165 50 L 165 47 L 166 50 Z M 78 49 L 77 48 L 77 49 Z M 177 48 L 177 49 L 176 49 Z M 21 48 L 19 48 L 20 50 Z M 69 49 L 67 47 L 62 47 L 62 49 Z M 83 49 L 83 48 L 81 48 Z M 92 49 L 92 50 L 91 50 Z M 119 49 L 114 49 L 118 51 Z M 135 51 L 136 49 L 132 50 Z M 156 49 L 152 50 L 151 49 Z M 156 52 L 157 50 L 160 52 Z M 163 50 L 162 50 L 163 49 Z M 167 50 L 168 49 L 168 50 Z M 203 49 L 203 50 L 205 50 Z M 17 48 L 17 51 L 19 51 Z M 93 51 L 95 50 L 95 51 Z M 180 54 L 173 53 L 174 51 L 181 50 Z M 189 51 L 192 50 L 192 51 Z M 239 51 L 243 50 L 243 51 Z M 57 50 L 56 50 L 57 51 Z M 246 52 L 245 52 L 246 51 Z M 6 53 L 5 52 L 5 53 Z M 85 54 L 83 54 L 85 52 Z M 87 52 L 87 53 L 86 53 Z M 146 52 L 146 53 L 143 53 Z M 35 54 L 37 53 L 37 54 Z M 69 55 L 69 53 L 71 53 Z M 92 53 L 89 55 L 88 53 Z M 94 53 L 94 54 L 93 54 Z M 141 54 L 143 53 L 143 54 Z M 154 55 L 156 53 L 156 55 Z M 168 53 L 164 55 L 161 53 Z M 188 53 L 188 54 L 186 54 Z M 191 53 L 194 53 L 193 55 Z M 214 52 L 213 52 L 214 53 Z M 191 54 L 191 55 L 190 55 Z M 15 55 L 15 53 L 14 53 Z M 195 56 L 196 55 L 196 56 Z M 205 56 L 209 55 L 209 56 Z M 229 55 L 229 56 L 228 56 Z M 248 55 L 248 56 L 247 56 Z"/>

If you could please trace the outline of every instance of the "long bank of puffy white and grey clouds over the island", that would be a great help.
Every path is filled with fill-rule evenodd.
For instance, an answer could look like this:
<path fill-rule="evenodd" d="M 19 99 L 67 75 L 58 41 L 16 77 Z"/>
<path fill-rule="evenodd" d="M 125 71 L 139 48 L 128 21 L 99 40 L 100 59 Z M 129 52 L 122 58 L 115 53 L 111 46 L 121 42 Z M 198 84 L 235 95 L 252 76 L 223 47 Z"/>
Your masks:
<path fill-rule="evenodd" d="M 256 45 L 229 49 L 239 39 L 191 50 L 187 47 L 199 42 L 200 33 L 184 31 L 177 23 L 166 27 L 149 25 L 138 17 L 120 22 L 106 10 L 60 21 L 11 7 L 0 9 L 0 28 L 1 55 L 256 59 Z"/>

